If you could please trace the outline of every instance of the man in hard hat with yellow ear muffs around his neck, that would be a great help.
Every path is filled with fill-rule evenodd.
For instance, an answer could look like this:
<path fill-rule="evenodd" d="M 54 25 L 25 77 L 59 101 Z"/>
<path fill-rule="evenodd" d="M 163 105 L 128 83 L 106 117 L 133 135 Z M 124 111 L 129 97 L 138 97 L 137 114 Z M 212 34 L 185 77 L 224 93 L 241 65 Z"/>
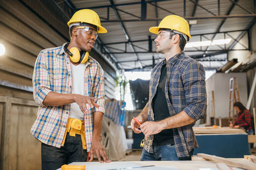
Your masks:
<path fill-rule="evenodd" d="M 38 116 L 31 133 L 42 142 L 42 169 L 90 161 L 111 162 L 100 143 L 104 113 L 103 69 L 88 52 L 107 30 L 93 10 L 68 21 L 70 42 L 39 53 L 33 73 Z"/>

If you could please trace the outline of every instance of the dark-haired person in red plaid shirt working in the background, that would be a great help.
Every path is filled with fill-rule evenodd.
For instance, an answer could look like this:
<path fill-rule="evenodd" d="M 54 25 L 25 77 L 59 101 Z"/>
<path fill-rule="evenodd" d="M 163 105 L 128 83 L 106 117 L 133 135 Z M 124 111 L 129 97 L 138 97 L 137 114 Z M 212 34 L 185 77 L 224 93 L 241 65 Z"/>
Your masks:
<path fill-rule="evenodd" d="M 247 110 L 244 105 L 237 101 L 234 103 L 234 109 L 237 111 L 237 117 L 236 120 L 233 122 L 233 124 L 230 124 L 229 127 L 238 129 L 243 128 L 246 130 L 248 134 L 253 134 L 252 130 L 252 118 L 251 113 L 249 110 Z"/>

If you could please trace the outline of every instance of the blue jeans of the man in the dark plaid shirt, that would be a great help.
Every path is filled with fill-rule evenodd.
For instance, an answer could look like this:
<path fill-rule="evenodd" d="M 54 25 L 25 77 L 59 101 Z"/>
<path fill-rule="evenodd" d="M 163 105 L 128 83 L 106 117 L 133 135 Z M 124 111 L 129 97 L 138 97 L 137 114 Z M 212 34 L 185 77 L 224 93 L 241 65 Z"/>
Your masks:
<path fill-rule="evenodd" d="M 152 161 L 152 160 L 191 160 L 193 150 L 189 153 L 189 157 L 177 157 L 175 146 L 173 145 L 161 145 L 153 146 L 153 153 L 148 153 L 143 149 L 141 153 L 141 161 Z"/>

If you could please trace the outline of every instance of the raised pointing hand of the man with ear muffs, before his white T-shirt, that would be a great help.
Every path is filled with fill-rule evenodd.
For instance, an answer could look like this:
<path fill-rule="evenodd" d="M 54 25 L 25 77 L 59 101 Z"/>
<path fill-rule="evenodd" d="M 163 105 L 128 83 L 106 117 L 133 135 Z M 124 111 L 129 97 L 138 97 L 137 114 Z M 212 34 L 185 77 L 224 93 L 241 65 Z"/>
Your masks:
<path fill-rule="evenodd" d="M 91 108 L 96 107 L 99 108 L 99 105 L 95 103 L 96 99 L 94 97 L 88 97 L 88 96 L 83 96 L 80 94 L 76 94 L 75 102 L 79 106 L 80 110 L 86 114 L 86 104 L 90 104 Z"/>

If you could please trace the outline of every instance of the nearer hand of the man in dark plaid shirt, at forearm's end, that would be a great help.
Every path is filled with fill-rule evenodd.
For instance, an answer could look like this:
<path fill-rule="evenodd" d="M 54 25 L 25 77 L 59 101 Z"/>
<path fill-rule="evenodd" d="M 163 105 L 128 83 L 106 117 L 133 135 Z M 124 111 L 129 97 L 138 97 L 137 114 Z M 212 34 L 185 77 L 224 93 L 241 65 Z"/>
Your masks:
<path fill-rule="evenodd" d="M 141 131 L 145 135 L 145 139 L 151 134 L 158 134 L 164 130 L 164 124 L 162 122 L 145 122 L 140 126 Z"/>

